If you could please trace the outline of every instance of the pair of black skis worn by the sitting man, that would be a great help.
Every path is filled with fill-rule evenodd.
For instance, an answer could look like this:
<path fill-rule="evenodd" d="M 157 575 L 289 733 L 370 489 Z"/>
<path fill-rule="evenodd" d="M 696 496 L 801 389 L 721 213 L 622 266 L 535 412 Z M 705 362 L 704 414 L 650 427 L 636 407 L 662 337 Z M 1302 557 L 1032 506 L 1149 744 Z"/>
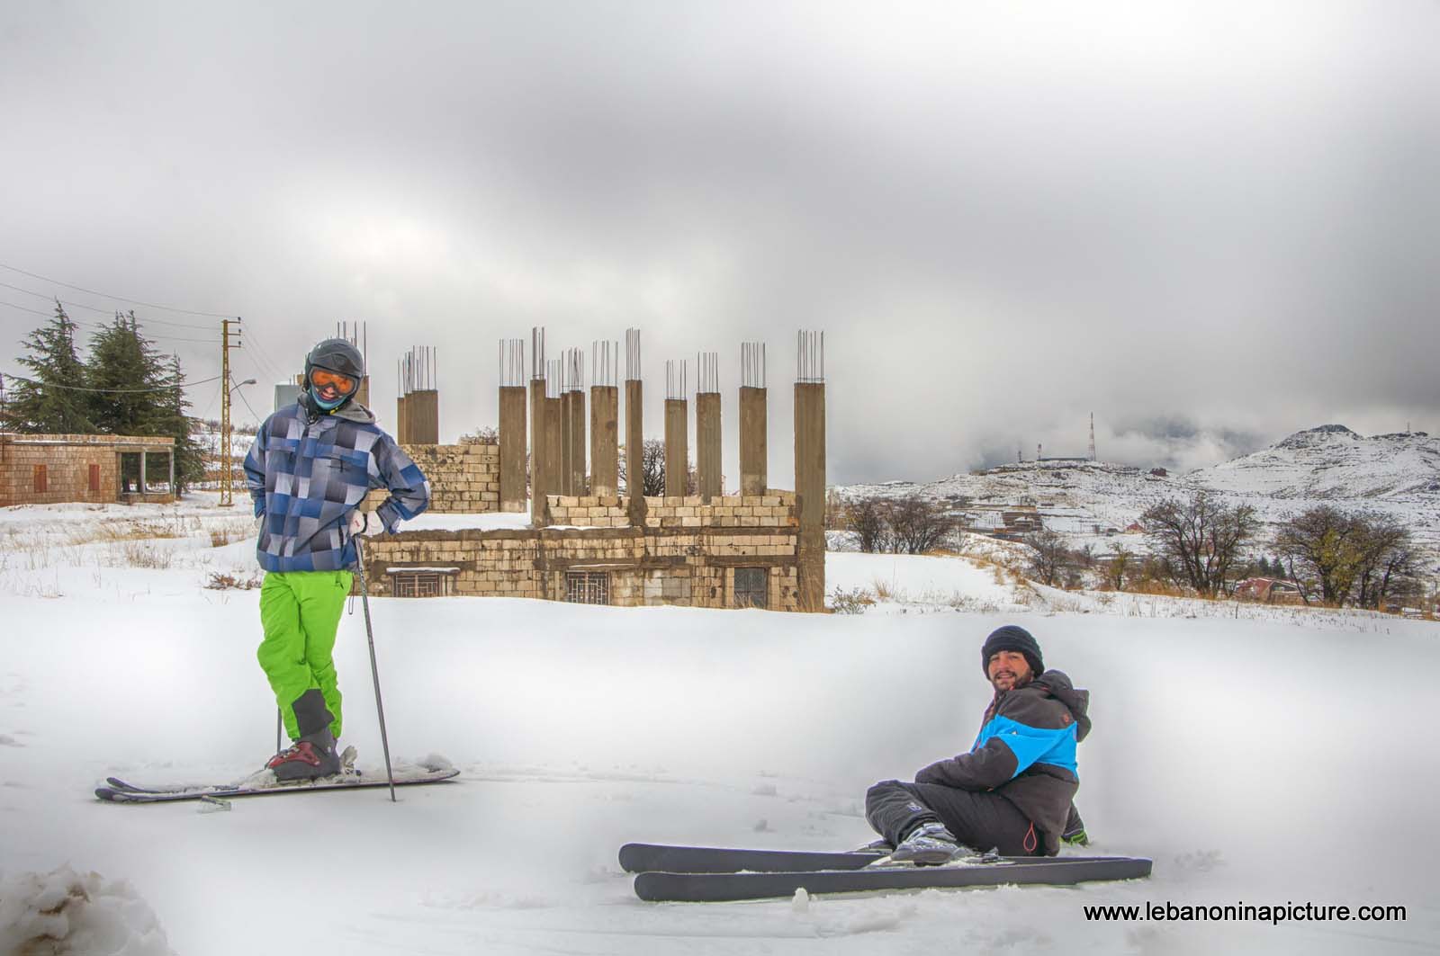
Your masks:
<path fill-rule="evenodd" d="M 943 867 L 888 864 L 883 849 L 796 852 L 625 844 L 621 868 L 651 901 L 723 903 L 806 893 L 867 893 L 1001 884 L 1071 885 L 1151 875 L 1142 857 L 992 857 Z"/>

